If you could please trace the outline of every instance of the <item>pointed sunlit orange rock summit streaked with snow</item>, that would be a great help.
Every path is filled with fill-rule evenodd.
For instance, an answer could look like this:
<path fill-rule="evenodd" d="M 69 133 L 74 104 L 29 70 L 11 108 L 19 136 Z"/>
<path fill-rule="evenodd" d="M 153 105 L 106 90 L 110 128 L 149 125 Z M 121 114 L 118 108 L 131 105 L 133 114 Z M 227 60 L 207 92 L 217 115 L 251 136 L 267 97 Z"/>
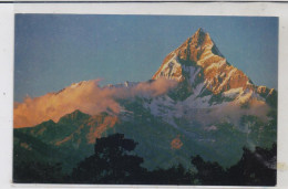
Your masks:
<path fill-rule="evenodd" d="M 192 91 L 203 83 L 202 91 L 205 88 L 213 94 L 254 86 L 247 75 L 227 62 L 209 33 L 202 28 L 164 59 L 152 78 L 163 76 L 184 82 L 192 86 Z"/>

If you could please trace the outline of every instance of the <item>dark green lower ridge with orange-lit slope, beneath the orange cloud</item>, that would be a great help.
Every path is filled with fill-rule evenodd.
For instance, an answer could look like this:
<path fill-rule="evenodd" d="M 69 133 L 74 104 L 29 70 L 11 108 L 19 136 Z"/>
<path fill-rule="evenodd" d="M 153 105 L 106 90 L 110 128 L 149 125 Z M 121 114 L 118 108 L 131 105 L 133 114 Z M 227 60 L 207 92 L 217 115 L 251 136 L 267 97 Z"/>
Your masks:
<path fill-rule="evenodd" d="M 80 160 L 93 153 L 95 138 L 104 128 L 114 126 L 116 122 L 116 117 L 106 113 L 90 116 L 75 111 L 58 123 L 48 120 L 34 127 L 16 128 L 14 157 L 19 157 L 19 161 L 21 157 L 33 159 L 30 154 L 35 151 L 38 160 L 62 162 L 63 171 L 70 172 Z"/>

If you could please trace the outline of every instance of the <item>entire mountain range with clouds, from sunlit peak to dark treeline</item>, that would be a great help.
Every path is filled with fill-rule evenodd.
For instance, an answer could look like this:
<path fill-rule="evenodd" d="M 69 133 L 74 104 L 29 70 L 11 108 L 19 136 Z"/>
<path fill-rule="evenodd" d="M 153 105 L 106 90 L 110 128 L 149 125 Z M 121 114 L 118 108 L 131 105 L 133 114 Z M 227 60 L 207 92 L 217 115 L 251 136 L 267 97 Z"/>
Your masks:
<path fill-rule="evenodd" d="M 39 150 L 28 138 L 41 141 L 62 151 L 59 161 L 66 172 L 92 155 L 95 138 L 113 133 L 138 143 L 135 153 L 148 169 L 178 162 L 189 167 L 193 155 L 229 167 L 244 146 L 269 147 L 277 138 L 277 92 L 255 85 L 228 63 L 203 29 L 172 51 L 147 82 L 104 87 L 81 82 L 29 99 L 29 106 L 20 104 L 14 112 L 25 120 L 27 107 L 35 108 L 37 103 L 47 104 L 47 109 L 32 108 L 32 115 L 51 115 L 53 120 L 14 128 L 22 134 L 16 136 L 21 143 L 14 143 L 14 153 Z M 61 111 L 53 112 L 56 108 Z"/>

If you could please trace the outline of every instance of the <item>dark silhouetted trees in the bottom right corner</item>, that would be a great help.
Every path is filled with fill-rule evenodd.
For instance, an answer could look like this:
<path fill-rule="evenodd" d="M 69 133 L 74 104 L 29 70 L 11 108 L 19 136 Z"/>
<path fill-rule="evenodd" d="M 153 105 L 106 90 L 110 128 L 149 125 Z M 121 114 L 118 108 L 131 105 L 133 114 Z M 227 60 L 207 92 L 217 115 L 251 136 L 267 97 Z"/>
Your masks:
<path fill-rule="evenodd" d="M 271 149 L 256 147 L 254 151 L 243 148 L 241 159 L 228 169 L 217 162 L 204 161 L 200 156 L 192 157 L 197 169 L 195 179 L 199 185 L 275 186 L 276 144 Z"/>

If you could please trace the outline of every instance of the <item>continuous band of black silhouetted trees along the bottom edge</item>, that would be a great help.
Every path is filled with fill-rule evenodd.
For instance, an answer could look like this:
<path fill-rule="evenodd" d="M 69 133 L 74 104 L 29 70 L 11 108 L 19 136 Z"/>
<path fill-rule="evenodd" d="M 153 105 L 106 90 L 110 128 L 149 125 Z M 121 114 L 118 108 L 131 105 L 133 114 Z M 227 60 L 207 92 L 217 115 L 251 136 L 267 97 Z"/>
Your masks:
<path fill-rule="evenodd" d="M 38 183 L 131 183 L 131 185 L 209 185 L 209 186 L 275 186 L 276 144 L 270 149 L 243 148 L 240 160 L 223 168 L 218 162 L 192 157 L 195 170 L 183 165 L 147 170 L 142 157 L 134 154 L 137 143 L 114 134 L 97 138 L 94 154 L 73 169 L 70 176 L 61 171 L 60 164 L 14 161 L 14 182 Z"/>

